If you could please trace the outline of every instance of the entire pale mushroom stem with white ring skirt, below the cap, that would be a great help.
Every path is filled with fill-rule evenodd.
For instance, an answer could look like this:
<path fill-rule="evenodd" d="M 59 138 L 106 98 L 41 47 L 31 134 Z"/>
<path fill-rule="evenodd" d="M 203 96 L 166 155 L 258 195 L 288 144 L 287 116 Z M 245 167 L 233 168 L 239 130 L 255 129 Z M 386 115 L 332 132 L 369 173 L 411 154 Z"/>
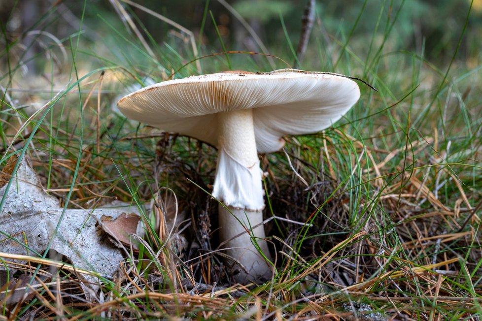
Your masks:
<path fill-rule="evenodd" d="M 271 275 L 263 254 L 270 259 L 263 222 L 262 171 L 259 167 L 251 109 L 218 114 L 219 157 L 212 195 L 219 205 L 221 242 L 226 253 L 241 263 L 233 275 L 240 283 Z"/>

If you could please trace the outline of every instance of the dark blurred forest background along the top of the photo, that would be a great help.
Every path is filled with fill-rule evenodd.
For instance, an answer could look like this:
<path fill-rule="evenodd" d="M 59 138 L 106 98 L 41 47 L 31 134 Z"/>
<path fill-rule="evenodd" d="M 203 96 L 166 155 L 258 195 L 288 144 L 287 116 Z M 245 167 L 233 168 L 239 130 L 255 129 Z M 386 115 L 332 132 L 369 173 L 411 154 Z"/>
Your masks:
<path fill-rule="evenodd" d="M 160 49 L 164 44 L 176 48 L 174 51 L 179 51 L 181 47 L 189 48 L 179 46 L 190 41 L 186 32 L 142 10 L 140 5 L 191 31 L 200 54 L 221 52 L 224 46 L 225 50 L 269 51 L 292 64 L 290 45 L 296 49 L 307 3 L 304 0 L 135 2 L 138 6 L 128 5 L 128 1 L 122 0 L 0 0 L 0 21 L 4 32 L 0 46 L 4 47 L 6 42 L 20 42 L 21 46 L 16 49 L 19 50 L 19 59 L 26 61 L 24 72 L 34 73 L 43 68 L 42 62 L 46 62 L 32 57 L 41 51 L 39 47 L 48 46 L 53 40 L 48 33 L 64 43 L 67 37 L 81 29 L 82 44 L 95 47 L 99 56 L 106 55 L 113 48 L 123 47 L 123 41 L 132 40 L 139 34 L 157 58 L 166 55 L 156 51 L 164 50 Z M 307 63 L 302 66 L 314 70 L 329 69 L 330 57 L 320 55 L 319 48 L 328 48 L 327 52 L 331 52 L 329 48 L 343 47 L 343 41 L 348 38 L 350 50 L 359 57 L 370 54 L 370 42 L 374 41 L 385 42 L 385 53 L 405 50 L 415 52 L 434 64 L 447 64 L 464 29 L 470 4 L 470 0 L 353 0 L 349 4 L 318 0 Z M 129 26 L 132 23 L 138 28 L 137 34 Z M 250 34 L 246 23 L 259 39 Z M 388 39 L 384 39 L 389 29 L 393 30 L 390 30 Z M 131 34 L 126 35 L 125 30 Z M 45 33 L 39 36 L 39 31 Z M 457 56 L 468 68 L 474 68 L 480 62 L 481 34 L 482 0 L 474 0 Z M 192 53 L 179 54 L 186 60 L 193 58 Z M 4 59 L 5 55 L 2 56 Z M 4 63 L 1 67 L 3 72 Z"/>

